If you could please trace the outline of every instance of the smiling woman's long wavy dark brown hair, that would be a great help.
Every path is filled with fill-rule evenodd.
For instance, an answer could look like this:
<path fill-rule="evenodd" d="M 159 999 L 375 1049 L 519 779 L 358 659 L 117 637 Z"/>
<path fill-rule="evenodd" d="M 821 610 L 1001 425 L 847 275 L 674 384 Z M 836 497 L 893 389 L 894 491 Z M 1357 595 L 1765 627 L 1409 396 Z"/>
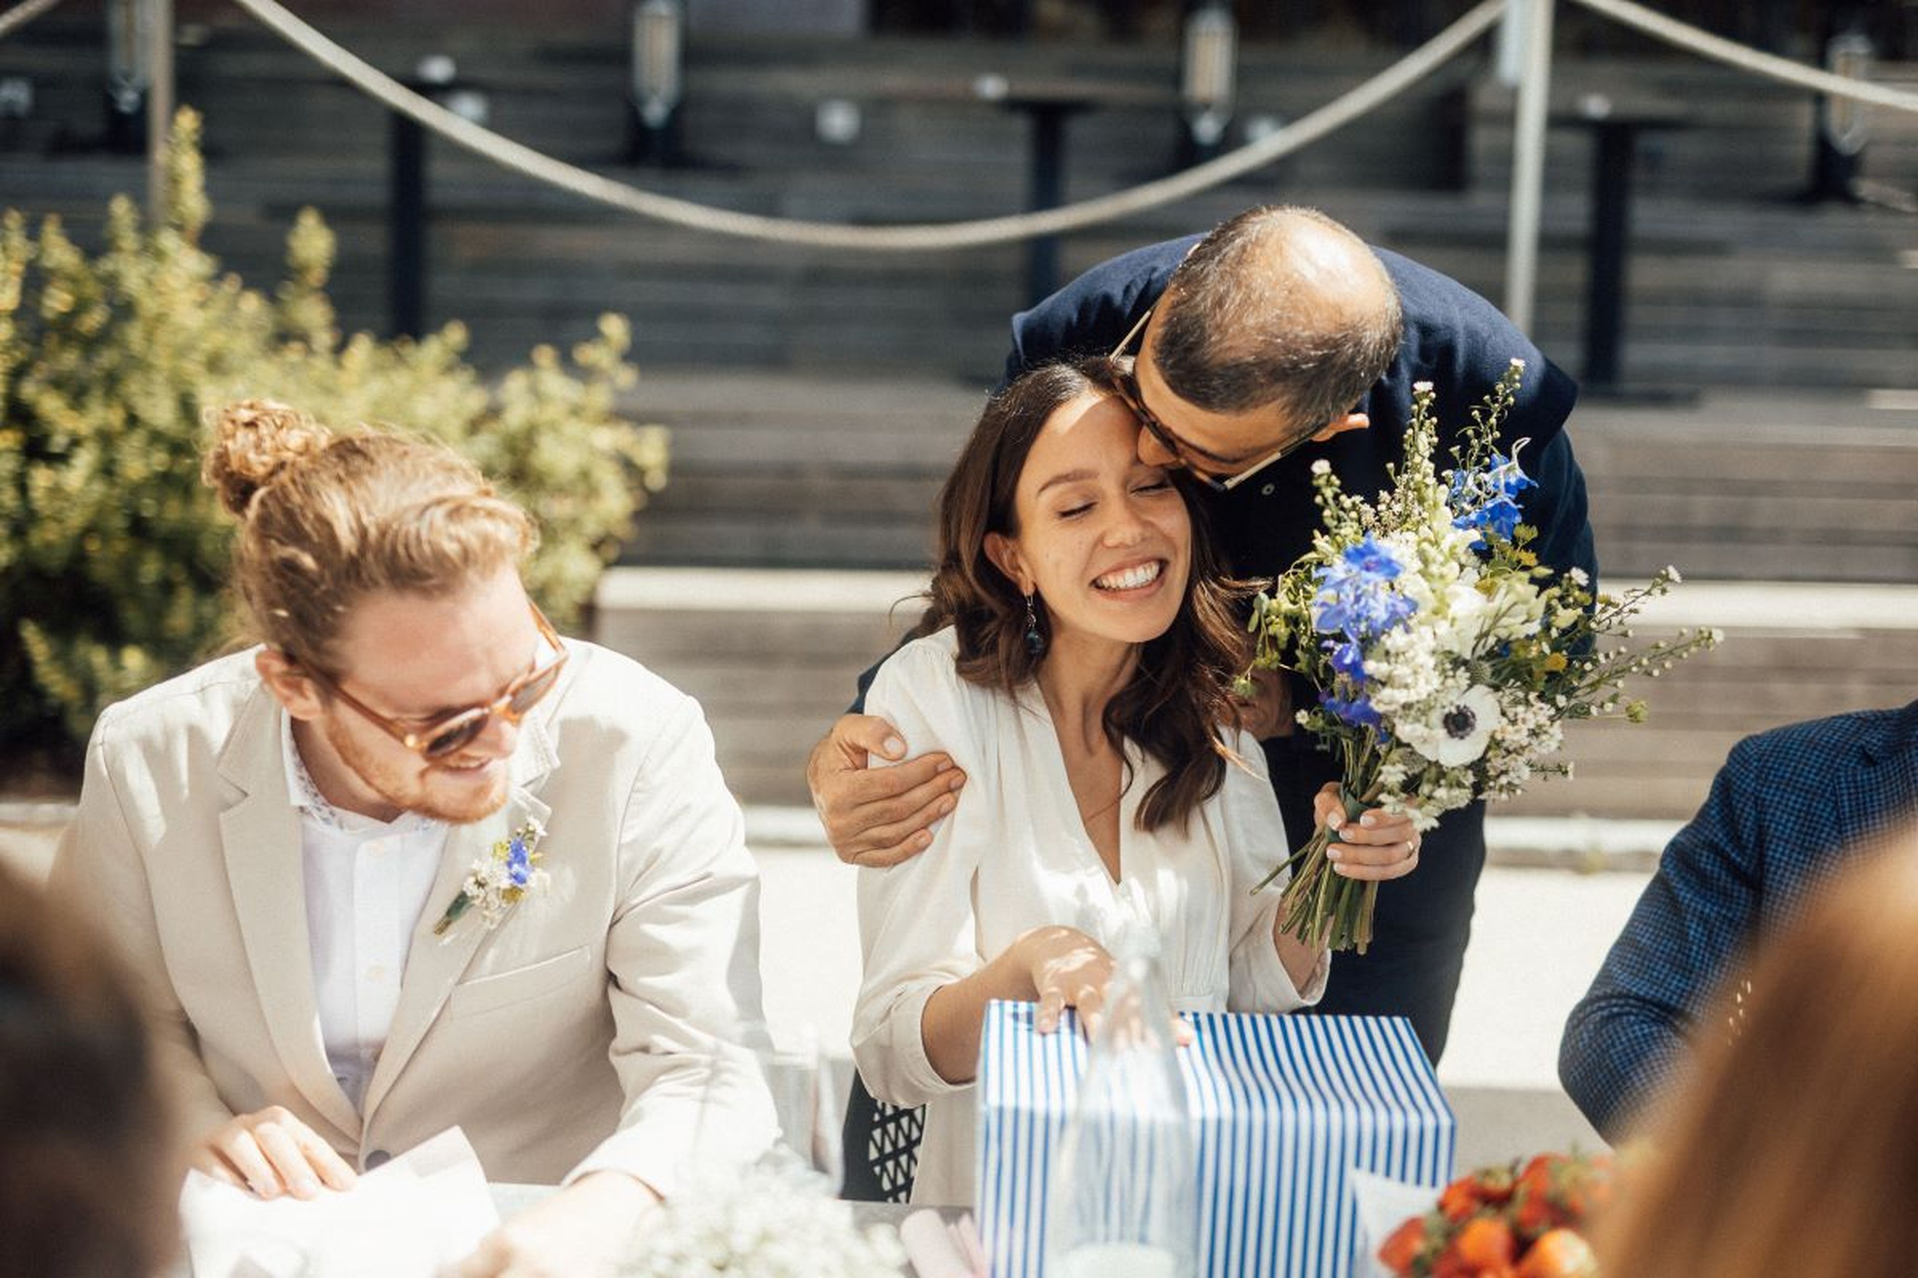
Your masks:
<path fill-rule="evenodd" d="M 1082 395 L 1116 399 L 1122 368 L 1105 356 L 1045 364 L 994 395 L 940 491 L 938 569 L 915 632 L 953 627 L 959 676 L 967 682 L 1013 694 L 1045 659 L 1026 648 L 1026 598 L 986 558 L 986 535 L 1018 535 L 1013 500 L 1018 473 L 1053 412 Z M 1105 707 L 1112 747 L 1122 751 L 1132 742 L 1164 768 L 1139 805 L 1143 830 L 1183 828 L 1193 809 L 1218 793 L 1226 780 L 1218 724 L 1233 717 L 1228 692 L 1245 663 L 1235 615 L 1245 590 L 1224 579 L 1205 519 L 1183 485 L 1180 496 L 1193 523 L 1185 598 L 1172 627 L 1139 648 L 1132 680 Z M 1047 627 L 1040 609 L 1040 630 Z"/>

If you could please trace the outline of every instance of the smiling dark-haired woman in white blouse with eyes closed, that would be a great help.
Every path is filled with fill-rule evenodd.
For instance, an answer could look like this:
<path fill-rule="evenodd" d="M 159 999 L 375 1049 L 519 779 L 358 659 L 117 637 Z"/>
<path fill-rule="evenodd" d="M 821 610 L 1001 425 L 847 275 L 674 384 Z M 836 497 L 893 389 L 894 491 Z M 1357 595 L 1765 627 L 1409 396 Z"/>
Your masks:
<path fill-rule="evenodd" d="M 1235 586 L 1139 458 L 1120 370 L 1040 368 L 988 404 L 940 494 L 921 638 L 867 694 L 909 753 L 971 778 L 921 856 L 859 881 L 854 1054 L 875 1096 L 926 1106 L 915 1201 L 972 1198 L 986 1002 L 1097 1019 L 1128 901 L 1180 1010 L 1287 1012 L 1325 979 L 1247 891 L 1285 833 L 1231 726 Z"/>

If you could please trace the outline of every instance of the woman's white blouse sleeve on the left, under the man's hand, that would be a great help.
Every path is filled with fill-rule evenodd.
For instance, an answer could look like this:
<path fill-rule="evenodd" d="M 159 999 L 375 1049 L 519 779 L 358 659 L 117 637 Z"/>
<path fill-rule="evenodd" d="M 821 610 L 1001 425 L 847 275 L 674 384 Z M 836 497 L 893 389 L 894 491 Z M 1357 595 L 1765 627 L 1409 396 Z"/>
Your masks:
<path fill-rule="evenodd" d="M 986 696 L 963 684 L 947 648 L 919 640 L 896 651 L 865 707 L 900 730 L 907 757 L 942 749 L 972 789 L 982 789 L 990 776 Z M 942 1079 L 926 1060 L 921 1017 L 932 991 L 984 966 L 972 893 L 990 809 L 988 793 L 961 795 L 951 816 L 934 824 L 926 851 L 884 870 L 859 870 L 865 979 L 852 1052 L 873 1096 L 894 1106 L 923 1106 L 965 1086 Z"/>

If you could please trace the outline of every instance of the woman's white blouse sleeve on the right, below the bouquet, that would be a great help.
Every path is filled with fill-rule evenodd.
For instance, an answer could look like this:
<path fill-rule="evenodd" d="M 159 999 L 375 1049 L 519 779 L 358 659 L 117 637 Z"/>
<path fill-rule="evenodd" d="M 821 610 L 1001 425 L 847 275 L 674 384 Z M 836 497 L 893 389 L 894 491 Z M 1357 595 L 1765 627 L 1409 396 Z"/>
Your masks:
<path fill-rule="evenodd" d="M 1264 889 L 1252 885 L 1272 874 L 1291 851 L 1279 801 L 1266 776 L 1266 753 L 1258 742 L 1239 734 L 1231 742 L 1247 766 L 1226 763 L 1226 784 L 1218 801 L 1224 809 L 1226 860 L 1231 893 L 1231 952 L 1226 1006 L 1231 1012 L 1291 1012 L 1306 1008 L 1325 993 L 1331 954 L 1320 954 L 1304 989 L 1293 983 L 1272 943 L 1289 872 L 1281 870 Z"/>

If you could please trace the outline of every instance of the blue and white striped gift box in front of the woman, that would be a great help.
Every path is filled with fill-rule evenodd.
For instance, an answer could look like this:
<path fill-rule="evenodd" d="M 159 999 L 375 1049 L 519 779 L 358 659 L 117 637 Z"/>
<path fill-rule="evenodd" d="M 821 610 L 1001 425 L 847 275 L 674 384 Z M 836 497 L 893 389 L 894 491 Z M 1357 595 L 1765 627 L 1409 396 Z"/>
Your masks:
<path fill-rule="evenodd" d="M 1199 1148 L 1199 1272 L 1346 1278 L 1358 1249 L 1350 1169 L 1440 1188 L 1452 1107 L 1404 1017 L 1187 1016 L 1180 1052 Z M 978 1207 L 994 1278 L 1043 1278 L 1053 1150 L 1086 1044 L 1032 1031 L 1032 1004 L 986 1010 Z"/>

